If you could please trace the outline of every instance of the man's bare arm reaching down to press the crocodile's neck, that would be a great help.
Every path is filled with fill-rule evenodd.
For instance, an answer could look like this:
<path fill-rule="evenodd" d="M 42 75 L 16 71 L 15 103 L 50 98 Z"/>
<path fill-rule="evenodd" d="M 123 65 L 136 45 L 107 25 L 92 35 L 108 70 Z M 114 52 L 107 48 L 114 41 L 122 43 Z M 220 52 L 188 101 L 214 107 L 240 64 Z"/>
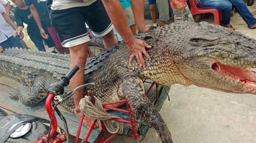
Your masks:
<path fill-rule="evenodd" d="M 143 1 L 143 0 L 136 0 L 136 2 L 138 1 Z M 122 9 L 122 6 L 119 1 L 102 0 L 102 2 L 109 15 L 109 18 L 111 19 L 111 22 L 114 24 L 115 28 L 117 29 L 118 33 L 121 35 L 122 39 L 124 39 L 128 47 L 128 50 L 131 53 L 131 56 L 129 58 L 129 65 L 132 63 L 132 59 L 136 57 L 138 64 L 140 66 L 145 67 L 145 61 L 143 59 L 142 54 L 144 54 L 147 59 L 151 60 L 149 54 L 145 50 L 145 47 L 151 48 L 151 46 L 149 46 L 144 41 L 135 38 L 132 31 L 130 30 L 130 27 L 128 26 L 128 22 L 124 14 L 124 10 Z M 134 1 L 134 4 L 135 4 L 135 1 Z M 137 16 L 136 19 L 138 20 L 139 16 Z M 144 17 L 143 17 L 143 20 L 138 21 L 138 24 L 140 28 L 139 30 L 143 30 L 143 28 L 145 27 Z"/>

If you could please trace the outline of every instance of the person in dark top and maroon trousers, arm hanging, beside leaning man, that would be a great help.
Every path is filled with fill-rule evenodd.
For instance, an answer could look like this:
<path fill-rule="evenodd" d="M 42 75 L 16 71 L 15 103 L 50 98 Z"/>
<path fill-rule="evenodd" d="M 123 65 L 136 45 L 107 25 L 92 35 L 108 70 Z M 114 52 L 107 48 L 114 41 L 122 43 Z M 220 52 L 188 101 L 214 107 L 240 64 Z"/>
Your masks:
<path fill-rule="evenodd" d="M 59 41 L 59 37 L 57 36 L 57 34 L 52 28 L 50 15 L 46 7 L 46 0 L 24 0 L 24 2 L 25 2 L 25 6 L 29 6 L 32 16 L 34 17 L 34 20 L 36 20 L 36 23 L 39 23 L 38 16 L 40 17 L 42 24 L 46 26 L 48 32 L 50 33 L 53 39 L 53 42 L 55 43 L 57 51 L 60 52 L 61 54 L 64 54 L 64 52 L 68 54 L 69 49 L 62 47 Z M 36 11 L 38 12 L 38 15 L 36 14 Z"/>

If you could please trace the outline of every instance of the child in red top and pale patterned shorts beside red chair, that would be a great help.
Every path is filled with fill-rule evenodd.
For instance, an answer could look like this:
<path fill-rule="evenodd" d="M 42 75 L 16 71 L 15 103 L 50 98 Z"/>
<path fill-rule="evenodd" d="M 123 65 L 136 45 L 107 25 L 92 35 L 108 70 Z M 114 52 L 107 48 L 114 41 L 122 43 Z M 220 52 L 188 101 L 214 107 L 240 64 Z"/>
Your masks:
<path fill-rule="evenodd" d="M 171 1 L 172 11 L 174 13 L 175 21 L 178 20 L 177 15 L 181 14 L 183 15 L 184 21 L 194 22 L 194 19 L 190 13 L 189 7 L 187 6 L 186 0 L 170 0 L 170 1 Z"/>

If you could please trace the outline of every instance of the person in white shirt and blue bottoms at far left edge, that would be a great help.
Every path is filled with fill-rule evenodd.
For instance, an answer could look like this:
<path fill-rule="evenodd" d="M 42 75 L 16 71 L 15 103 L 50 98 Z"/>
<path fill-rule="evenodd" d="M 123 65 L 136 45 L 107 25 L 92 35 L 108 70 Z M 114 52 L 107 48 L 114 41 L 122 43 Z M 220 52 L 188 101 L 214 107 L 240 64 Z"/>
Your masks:
<path fill-rule="evenodd" d="M 0 0 L 0 46 L 2 47 L 2 50 L 10 47 L 23 48 L 19 39 L 12 35 L 14 30 L 18 30 L 18 27 L 7 15 L 4 7 L 6 4 L 8 4 L 7 0 Z M 23 33 L 19 33 L 19 35 L 21 38 L 23 37 Z"/>

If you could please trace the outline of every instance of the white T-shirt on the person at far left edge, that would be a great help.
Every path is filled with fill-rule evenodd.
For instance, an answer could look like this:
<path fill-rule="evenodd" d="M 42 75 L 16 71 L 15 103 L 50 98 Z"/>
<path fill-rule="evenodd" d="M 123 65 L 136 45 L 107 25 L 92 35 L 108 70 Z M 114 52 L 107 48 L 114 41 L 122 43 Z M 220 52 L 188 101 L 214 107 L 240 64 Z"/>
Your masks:
<path fill-rule="evenodd" d="M 6 0 L 0 0 L 0 43 L 6 41 L 9 37 L 12 36 L 14 29 L 10 24 L 6 22 L 2 13 L 5 13 L 5 7 L 8 2 Z M 7 38 L 8 37 L 8 38 Z"/>

